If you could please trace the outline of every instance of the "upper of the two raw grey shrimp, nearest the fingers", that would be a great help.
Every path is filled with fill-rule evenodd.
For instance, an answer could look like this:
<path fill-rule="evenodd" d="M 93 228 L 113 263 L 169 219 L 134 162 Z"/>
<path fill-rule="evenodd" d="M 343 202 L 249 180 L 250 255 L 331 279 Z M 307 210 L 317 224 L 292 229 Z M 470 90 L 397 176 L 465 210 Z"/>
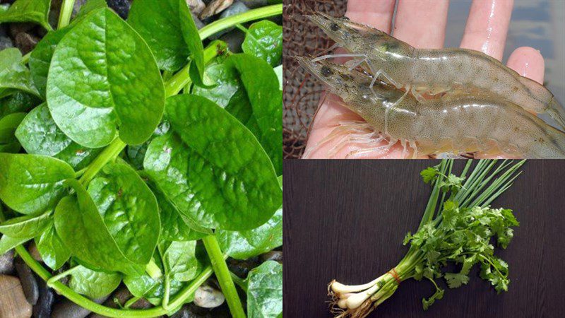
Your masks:
<path fill-rule="evenodd" d="M 325 15 L 310 19 L 351 54 L 319 57 L 356 57 L 353 67 L 367 63 L 374 79 L 381 78 L 396 88 L 410 90 L 420 101 L 422 95 L 453 90 L 489 90 L 537 114 L 547 113 L 565 129 L 565 110 L 540 83 L 520 76 L 500 61 L 472 49 L 416 49 L 376 28 L 347 18 Z M 477 90 L 478 88 L 478 90 Z"/>

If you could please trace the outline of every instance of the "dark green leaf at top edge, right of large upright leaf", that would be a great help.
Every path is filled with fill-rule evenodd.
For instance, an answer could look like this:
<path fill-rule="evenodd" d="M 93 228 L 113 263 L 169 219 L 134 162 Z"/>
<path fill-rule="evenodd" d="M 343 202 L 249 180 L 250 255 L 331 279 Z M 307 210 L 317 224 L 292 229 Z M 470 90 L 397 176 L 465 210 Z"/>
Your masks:
<path fill-rule="evenodd" d="M 145 39 L 161 69 L 177 71 L 189 55 L 203 72 L 203 46 L 185 0 L 136 0 L 129 24 Z"/>

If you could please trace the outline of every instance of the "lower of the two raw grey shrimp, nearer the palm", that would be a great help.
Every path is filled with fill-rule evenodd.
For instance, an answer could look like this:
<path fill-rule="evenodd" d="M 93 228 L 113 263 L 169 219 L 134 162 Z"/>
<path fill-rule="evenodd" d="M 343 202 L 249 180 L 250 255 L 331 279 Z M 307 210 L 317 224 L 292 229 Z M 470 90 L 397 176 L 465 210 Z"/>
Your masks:
<path fill-rule="evenodd" d="M 388 141 L 385 146 L 354 151 L 350 155 L 386 152 L 400 141 L 405 150 L 403 155 L 407 153 L 407 146 L 413 149 L 412 158 L 418 153 L 475 152 L 515 158 L 565 158 L 565 133 L 512 102 L 493 98 L 495 95 L 463 92 L 420 102 L 384 82 L 374 82 L 365 73 L 350 71 L 347 66 L 304 57 L 297 60 L 326 83 L 329 91 L 343 100 L 345 107 L 366 121 L 338 127 L 345 133 L 336 131 L 333 137 L 345 135 L 346 138 L 338 143 L 380 141 L 381 145 L 383 140 Z M 347 128 L 357 131 L 355 139 L 347 139 Z M 367 128 L 371 128 L 374 135 L 368 136 Z M 321 146 L 320 143 L 314 148 L 317 146 Z"/>

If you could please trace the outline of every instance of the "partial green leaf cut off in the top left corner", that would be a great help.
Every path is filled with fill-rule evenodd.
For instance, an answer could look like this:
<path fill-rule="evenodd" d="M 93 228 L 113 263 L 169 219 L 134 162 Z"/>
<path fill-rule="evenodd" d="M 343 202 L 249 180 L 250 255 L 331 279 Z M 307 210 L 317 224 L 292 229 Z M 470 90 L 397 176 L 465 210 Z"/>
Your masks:
<path fill-rule="evenodd" d="M 0 11 L 2 22 L 35 22 L 51 30 L 49 25 L 49 7 L 51 0 L 16 0 L 8 10 Z"/>

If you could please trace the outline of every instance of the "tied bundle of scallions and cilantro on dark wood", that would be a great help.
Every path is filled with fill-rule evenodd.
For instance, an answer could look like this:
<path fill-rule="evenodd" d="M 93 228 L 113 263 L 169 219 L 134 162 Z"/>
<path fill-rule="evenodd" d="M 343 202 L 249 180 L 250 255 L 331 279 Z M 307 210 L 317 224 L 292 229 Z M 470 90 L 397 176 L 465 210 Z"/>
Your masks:
<path fill-rule="evenodd" d="M 369 283 L 344 285 L 332 281 L 328 290 L 336 317 L 366 317 L 409 278 L 426 278 L 433 283 L 435 293 L 422 299 L 427 310 L 444 296 L 437 278 L 443 277 L 449 288 L 458 288 L 468 283 L 475 264 L 480 266 L 480 277 L 497 292 L 508 290 L 509 266 L 496 257 L 493 243 L 503 249 L 508 247 L 512 227 L 518 226 L 518 221 L 511 210 L 489 204 L 511 187 L 523 163 L 478 160 L 472 168 L 472 160 L 468 160 L 463 172 L 455 175 L 453 160 L 443 160 L 423 170 L 424 182 L 434 187 L 418 230 L 409 232 L 403 242 L 410 245 L 408 253 L 390 271 Z M 458 264 L 460 270 L 445 273 L 448 263 Z"/>

